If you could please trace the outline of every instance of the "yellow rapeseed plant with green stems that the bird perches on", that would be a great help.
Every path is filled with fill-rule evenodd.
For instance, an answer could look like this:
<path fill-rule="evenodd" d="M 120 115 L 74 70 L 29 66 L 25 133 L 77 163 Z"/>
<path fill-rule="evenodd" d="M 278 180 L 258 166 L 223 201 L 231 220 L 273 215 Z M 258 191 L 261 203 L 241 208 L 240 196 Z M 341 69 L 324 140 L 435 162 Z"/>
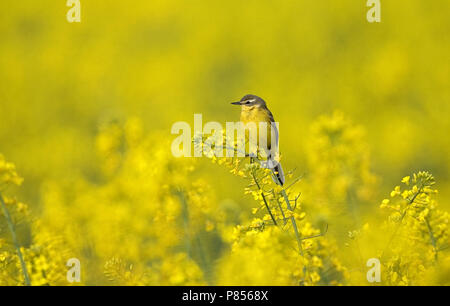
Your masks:
<path fill-rule="evenodd" d="M 195 139 L 194 139 L 195 141 Z M 197 142 L 198 144 L 198 142 Z M 244 193 L 255 203 L 255 215 L 247 225 L 233 229 L 232 251 L 218 268 L 218 283 L 228 285 L 337 285 L 345 282 L 346 269 L 335 256 L 335 244 L 306 220 L 300 193 L 272 179 L 272 171 L 250 158 L 219 157 L 210 152 L 214 163 L 224 165 L 238 177 L 248 180 Z M 288 172 L 287 177 L 293 177 Z"/>

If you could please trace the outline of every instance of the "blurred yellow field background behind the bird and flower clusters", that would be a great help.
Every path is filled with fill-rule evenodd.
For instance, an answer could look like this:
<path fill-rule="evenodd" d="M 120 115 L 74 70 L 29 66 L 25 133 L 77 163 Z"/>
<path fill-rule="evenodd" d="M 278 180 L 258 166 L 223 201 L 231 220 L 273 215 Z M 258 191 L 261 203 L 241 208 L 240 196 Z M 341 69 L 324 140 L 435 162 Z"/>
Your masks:
<path fill-rule="evenodd" d="M 237 214 L 239 221 L 230 224 L 250 218 L 252 200 L 242 193 L 246 182 L 226 169 L 205 158 L 195 161 L 193 172 L 168 166 L 169 172 L 161 170 L 167 176 L 157 176 L 161 181 L 143 182 L 150 178 L 129 169 L 115 174 L 127 151 L 108 138 L 121 133 L 133 138 L 129 129 L 146 135 L 152 140 L 135 152 L 141 161 L 126 164 L 157 169 L 167 165 L 160 159 L 170 154 L 174 122 L 193 123 L 194 113 L 202 113 L 204 121 L 237 121 L 239 111 L 229 102 L 247 93 L 265 99 L 280 122 L 283 167 L 305 174 L 296 187 L 304 194 L 304 209 L 317 227 L 329 224 L 338 249 L 353 223 L 342 219 L 345 213 L 334 203 L 333 191 L 320 187 L 335 179 L 317 170 L 320 149 L 314 148 L 320 132 L 314 122 L 320 125 L 323 115 L 338 111 L 334 116 L 342 114 L 361 130 L 352 154 L 364 156 L 362 181 L 370 192 L 356 202 L 362 210 L 359 226 L 373 218 L 404 176 L 420 170 L 433 173 L 440 207 L 450 209 L 449 1 L 381 1 L 381 23 L 367 22 L 364 0 L 81 0 L 81 23 L 67 22 L 65 2 L 8 1 L 0 10 L 0 153 L 25 178 L 20 188 L 7 193 L 26 202 L 44 227 L 70 241 L 75 257 L 89 262 L 85 283 L 103 284 L 103 265 L 115 253 L 144 267 L 166 258 L 161 255 L 166 246 L 143 244 L 151 230 L 136 214 L 160 199 L 145 200 L 154 194 L 152 188 L 177 180 L 169 175 L 184 176 L 174 186 L 208 182 L 213 195 L 199 191 L 199 197 L 217 203 L 214 209 L 221 213 L 227 207 Z M 102 133 L 107 134 L 104 139 Z M 108 155 L 111 148 L 118 156 Z M 184 161 L 173 163 L 178 167 Z M 338 171 L 345 175 L 353 170 Z M 103 190 L 111 184 L 117 189 L 119 180 L 122 187 L 132 185 L 123 187 L 124 194 L 134 192 L 123 206 L 110 204 Z M 328 211 L 316 200 L 331 203 Z M 74 204 L 80 202 L 84 204 Z M 114 213 L 106 213 L 110 206 Z M 121 222 L 113 222 L 108 232 L 105 224 L 125 216 L 136 232 Z M 86 233 L 58 232 L 72 221 Z M 342 224 L 350 227 L 344 233 L 336 228 Z M 32 241 L 27 233 L 24 244 Z M 199 237 L 209 249 L 220 250 L 208 254 L 203 264 L 198 264 L 200 255 L 193 256 L 206 277 L 191 267 L 188 276 L 147 283 L 189 284 L 187 280 L 197 278 L 197 283 L 228 283 L 224 273 L 216 272 L 216 260 L 230 252 L 227 239 Z M 105 239 L 110 245 L 97 244 Z M 175 254 L 180 244 L 174 242 L 176 247 L 167 252 Z M 142 253 L 144 245 L 149 249 Z"/>

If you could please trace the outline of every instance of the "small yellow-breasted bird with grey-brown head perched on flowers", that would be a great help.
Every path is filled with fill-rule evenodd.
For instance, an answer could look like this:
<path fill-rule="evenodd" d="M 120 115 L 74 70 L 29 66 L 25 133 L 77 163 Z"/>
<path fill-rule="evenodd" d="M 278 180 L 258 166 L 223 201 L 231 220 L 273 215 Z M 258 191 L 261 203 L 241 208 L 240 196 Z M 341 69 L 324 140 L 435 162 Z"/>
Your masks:
<path fill-rule="evenodd" d="M 276 184 L 283 186 L 285 182 L 283 168 L 277 161 L 278 159 L 278 129 L 275 124 L 272 112 L 267 108 L 266 102 L 256 95 L 245 95 L 238 102 L 231 102 L 233 105 L 241 106 L 241 118 L 240 121 L 245 125 L 248 123 L 255 123 L 258 127 L 259 137 L 266 138 L 267 149 L 267 168 L 270 168 L 273 172 L 273 180 Z M 267 130 L 261 130 L 260 122 L 267 124 Z M 265 134 L 265 135 L 264 135 Z M 272 134 L 275 137 L 275 147 L 272 146 Z M 265 136 L 265 137 L 264 137 Z M 258 137 L 258 139 L 259 139 Z M 258 142 L 258 139 L 256 140 Z M 259 143 L 257 143 L 259 145 Z"/>

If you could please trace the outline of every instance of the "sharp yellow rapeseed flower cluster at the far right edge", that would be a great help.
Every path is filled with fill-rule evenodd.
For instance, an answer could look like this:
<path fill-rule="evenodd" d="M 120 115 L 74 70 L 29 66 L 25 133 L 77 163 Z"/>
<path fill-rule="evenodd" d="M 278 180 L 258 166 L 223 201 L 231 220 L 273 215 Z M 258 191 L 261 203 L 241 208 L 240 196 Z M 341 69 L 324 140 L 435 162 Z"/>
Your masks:
<path fill-rule="evenodd" d="M 382 255 L 389 284 L 413 285 L 426 271 L 439 269 L 440 254 L 450 242 L 449 214 L 438 209 L 430 173 L 407 176 L 402 183 L 380 205 L 390 212 L 385 227 L 391 233 Z"/>

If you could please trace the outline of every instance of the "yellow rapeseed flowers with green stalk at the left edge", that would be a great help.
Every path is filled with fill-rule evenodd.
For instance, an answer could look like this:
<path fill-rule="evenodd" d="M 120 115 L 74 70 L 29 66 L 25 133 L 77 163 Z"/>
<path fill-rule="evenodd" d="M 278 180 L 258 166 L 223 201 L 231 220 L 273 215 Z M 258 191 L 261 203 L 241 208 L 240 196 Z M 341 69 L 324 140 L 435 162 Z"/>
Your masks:
<path fill-rule="evenodd" d="M 14 164 L 0 155 L 0 186 L 22 181 Z M 0 285 L 66 284 L 65 260 L 70 253 L 62 239 L 42 228 L 26 204 L 1 193 L 0 200 Z"/>

